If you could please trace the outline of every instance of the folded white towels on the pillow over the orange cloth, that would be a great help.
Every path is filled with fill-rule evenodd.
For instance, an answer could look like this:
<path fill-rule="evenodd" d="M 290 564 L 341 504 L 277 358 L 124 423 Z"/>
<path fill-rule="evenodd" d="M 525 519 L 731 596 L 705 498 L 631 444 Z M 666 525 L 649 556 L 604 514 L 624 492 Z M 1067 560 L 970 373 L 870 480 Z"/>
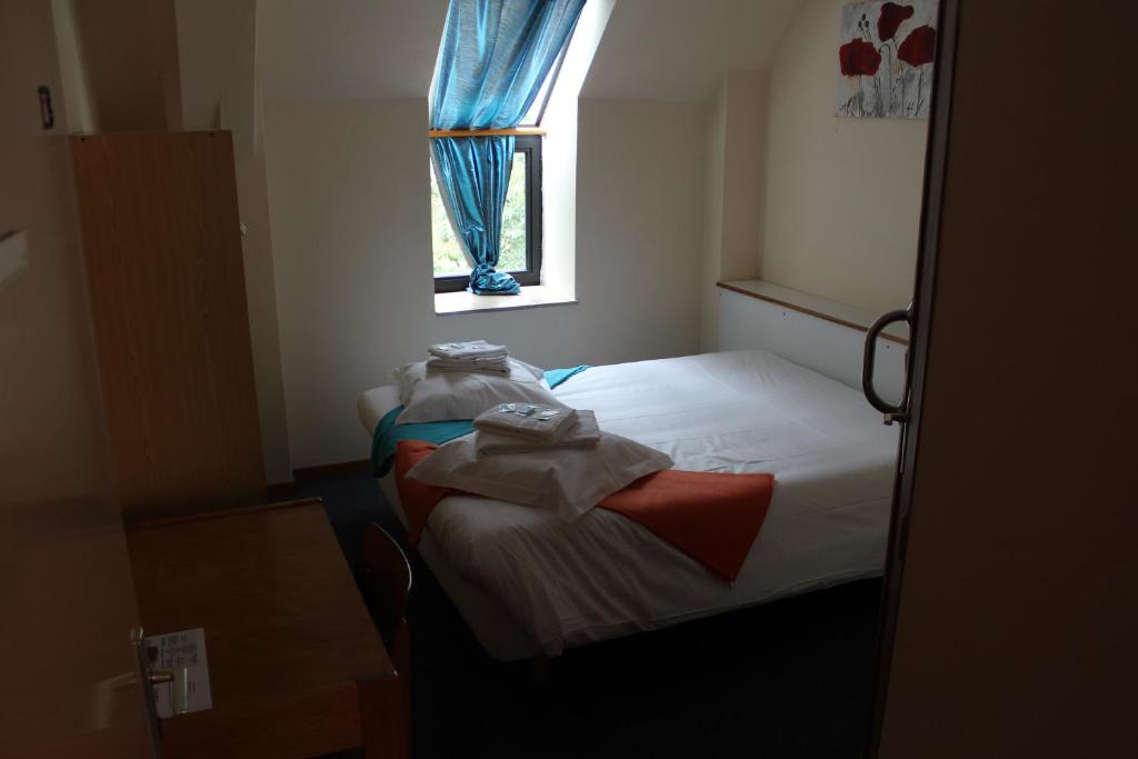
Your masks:
<path fill-rule="evenodd" d="M 601 430 L 592 411 L 501 403 L 475 418 L 478 454 L 596 447 Z"/>

